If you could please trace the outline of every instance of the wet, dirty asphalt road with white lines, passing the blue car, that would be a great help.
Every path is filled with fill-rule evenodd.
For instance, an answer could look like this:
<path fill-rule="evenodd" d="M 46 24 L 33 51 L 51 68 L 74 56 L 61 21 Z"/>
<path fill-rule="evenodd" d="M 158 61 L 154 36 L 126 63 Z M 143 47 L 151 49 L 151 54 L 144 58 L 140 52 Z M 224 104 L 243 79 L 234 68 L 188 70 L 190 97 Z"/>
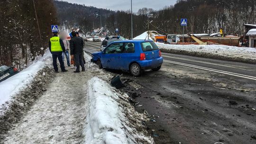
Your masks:
<path fill-rule="evenodd" d="M 85 49 L 99 47 L 87 42 Z M 151 115 L 146 126 L 156 144 L 256 144 L 255 64 L 162 55 L 158 72 L 124 73 L 122 89 Z"/>

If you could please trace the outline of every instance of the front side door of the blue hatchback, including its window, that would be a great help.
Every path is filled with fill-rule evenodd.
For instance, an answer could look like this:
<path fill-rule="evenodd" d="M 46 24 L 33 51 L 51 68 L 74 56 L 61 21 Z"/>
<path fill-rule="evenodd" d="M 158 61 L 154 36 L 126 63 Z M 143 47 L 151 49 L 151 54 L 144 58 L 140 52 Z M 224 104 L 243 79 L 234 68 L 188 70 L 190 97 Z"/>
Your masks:
<path fill-rule="evenodd" d="M 105 68 L 111 69 L 119 69 L 119 58 L 122 53 L 122 43 L 112 43 L 105 50 L 104 54 L 102 54 L 102 66 Z M 104 63 L 104 65 L 103 65 Z"/>

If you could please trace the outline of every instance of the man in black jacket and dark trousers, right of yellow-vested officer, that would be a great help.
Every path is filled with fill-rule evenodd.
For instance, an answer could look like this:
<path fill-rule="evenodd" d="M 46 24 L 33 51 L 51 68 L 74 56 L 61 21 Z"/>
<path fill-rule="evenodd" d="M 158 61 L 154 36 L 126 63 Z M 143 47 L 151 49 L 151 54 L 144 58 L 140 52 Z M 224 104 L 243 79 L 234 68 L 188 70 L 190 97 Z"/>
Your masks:
<path fill-rule="evenodd" d="M 72 38 L 69 42 L 70 44 L 70 54 L 74 55 L 75 59 L 75 65 L 76 65 L 76 71 L 74 72 L 80 72 L 80 65 L 82 67 L 82 72 L 85 71 L 84 63 L 83 63 L 83 41 L 81 38 L 76 36 L 76 33 L 73 31 L 71 32 Z"/>

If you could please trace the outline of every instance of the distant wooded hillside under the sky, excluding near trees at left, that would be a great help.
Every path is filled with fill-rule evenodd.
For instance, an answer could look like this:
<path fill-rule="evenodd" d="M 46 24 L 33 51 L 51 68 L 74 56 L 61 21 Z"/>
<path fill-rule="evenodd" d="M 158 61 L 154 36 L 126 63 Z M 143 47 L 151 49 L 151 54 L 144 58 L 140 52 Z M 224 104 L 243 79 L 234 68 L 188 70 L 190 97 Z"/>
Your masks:
<path fill-rule="evenodd" d="M 97 9 L 63 1 L 55 1 L 55 6 L 60 22 L 67 20 L 70 27 L 85 31 L 100 27 L 100 19 L 94 16 L 98 12 L 102 27 L 113 33 L 119 28 L 120 35 L 131 36 L 130 11 Z M 216 33 L 222 28 L 227 35 L 242 35 L 243 24 L 256 24 L 256 0 L 177 0 L 174 6 L 161 10 L 142 8 L 133 13 L 134 36 L 147 30 L 148 17 L 153 20 L 150 30 L 161 34 L 181 34 L 180 19 L 188 18 L 185 33 Z"/>

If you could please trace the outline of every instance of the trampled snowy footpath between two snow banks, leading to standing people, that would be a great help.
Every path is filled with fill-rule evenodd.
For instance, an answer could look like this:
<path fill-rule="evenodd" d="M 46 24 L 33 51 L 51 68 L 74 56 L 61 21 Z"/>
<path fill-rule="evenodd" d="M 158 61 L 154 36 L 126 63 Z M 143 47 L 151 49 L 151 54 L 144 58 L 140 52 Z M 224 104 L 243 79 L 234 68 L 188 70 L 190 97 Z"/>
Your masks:
<path fill-rule="evenodd" d="M 88 72 L 60 72 L 25 116 L 9 130 L 6 144 L 81 144 Z"/>

